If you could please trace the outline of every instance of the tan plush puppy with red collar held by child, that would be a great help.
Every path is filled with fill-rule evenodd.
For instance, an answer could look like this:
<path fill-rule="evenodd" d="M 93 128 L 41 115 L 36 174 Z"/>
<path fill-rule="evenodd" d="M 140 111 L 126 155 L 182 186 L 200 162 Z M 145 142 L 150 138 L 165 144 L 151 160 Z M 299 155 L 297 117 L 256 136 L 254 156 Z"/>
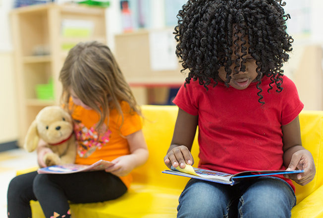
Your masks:
<path fill-rule="evenodd" d="M 45 154 L 44 161 L 47 166 L 75 162 L 76 145 L 72 118 L 64 109 L 49 106 L 39 111 L 27 131 L 24 149 L 28 152 L 34 151 L 40 138 L 54 152 Z"/>

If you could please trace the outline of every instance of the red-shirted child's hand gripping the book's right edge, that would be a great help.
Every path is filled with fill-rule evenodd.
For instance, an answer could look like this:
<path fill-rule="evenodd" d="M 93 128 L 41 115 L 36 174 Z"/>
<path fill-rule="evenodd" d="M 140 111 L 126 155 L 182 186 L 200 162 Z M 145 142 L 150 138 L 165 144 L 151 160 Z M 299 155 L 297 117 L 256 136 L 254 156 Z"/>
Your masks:
<path fill-rule="evenodd" d="M 313 156 L 309 151 L 303 149 L 293 154 L 292 160 L 290 161 L 286 170 L 295 170 L 296 168 L 304 169 L 304 172 L 298 174 L 287 174 L 285 177 L 293 179 L 300 185 L 306 185 L 313 180 L 316 169 Z"/>

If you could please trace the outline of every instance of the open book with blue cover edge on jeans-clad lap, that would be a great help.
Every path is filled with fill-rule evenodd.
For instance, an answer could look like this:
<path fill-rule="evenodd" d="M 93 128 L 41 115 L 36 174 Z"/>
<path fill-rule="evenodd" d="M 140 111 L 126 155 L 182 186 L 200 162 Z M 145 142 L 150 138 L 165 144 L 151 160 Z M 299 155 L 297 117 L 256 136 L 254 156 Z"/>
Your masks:
<path fill-rule="evenodd" d="M 234 185 L 241 181 L 242 179 L 259 177 L 259 176 L 270 176 L 270 175 L 281 175 L 281 174 L 292 174 L 301 173 L 304 170 L 259 170 L 259 171 L 243 171 L 236 174 L 228 174 L 224 172 L 217 172 L 207 169 L 195 168 L 191 165 L 186 164 L 185 168 L 182 169 L 179 166 L 174 168 L 171 166 L 171 170 L 167 169 L 162 171 L 163 173 L 186 176 L 196 179 L 202 179 L 211 182 L 217 182 L 222 184 Z"/>

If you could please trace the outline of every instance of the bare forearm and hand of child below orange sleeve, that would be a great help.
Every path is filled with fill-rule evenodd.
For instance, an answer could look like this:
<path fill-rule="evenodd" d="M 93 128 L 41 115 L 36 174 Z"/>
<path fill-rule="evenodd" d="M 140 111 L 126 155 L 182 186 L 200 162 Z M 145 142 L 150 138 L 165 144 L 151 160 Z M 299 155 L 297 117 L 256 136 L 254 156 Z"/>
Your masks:
<path fill-rule="evenodd" d="M 129 143 L 130 155 L 120 156 L 112 161 L 114 165 L 106 169 L 116 176 L 126 176 L 134 168 L 141 166 L 148 160 L 148 147 L 142 130 L 126 136 Z"/>

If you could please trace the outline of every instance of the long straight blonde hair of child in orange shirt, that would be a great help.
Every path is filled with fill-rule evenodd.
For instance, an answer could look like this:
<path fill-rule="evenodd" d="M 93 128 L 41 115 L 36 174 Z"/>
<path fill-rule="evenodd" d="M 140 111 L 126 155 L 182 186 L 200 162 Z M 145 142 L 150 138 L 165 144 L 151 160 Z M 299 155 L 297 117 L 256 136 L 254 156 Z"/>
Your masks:
<path fill-rule="evenodd" d="M 109 117 L 111 109 L 117 109 L 122 117 L 120 101 L 130 105 L 129 112 L 141 115 L 129 85 L 108 46 L 93 41 L 79 43 L 72 48 L 59 74 L 63 86 L 61 102 L 69 107 L 71 90 L 87 106 L 97 111 L 100 127 Z M 121 124 L 122 125 L 122 124 Z M 121 127 L 121 126 L 120 126 Z"/>

